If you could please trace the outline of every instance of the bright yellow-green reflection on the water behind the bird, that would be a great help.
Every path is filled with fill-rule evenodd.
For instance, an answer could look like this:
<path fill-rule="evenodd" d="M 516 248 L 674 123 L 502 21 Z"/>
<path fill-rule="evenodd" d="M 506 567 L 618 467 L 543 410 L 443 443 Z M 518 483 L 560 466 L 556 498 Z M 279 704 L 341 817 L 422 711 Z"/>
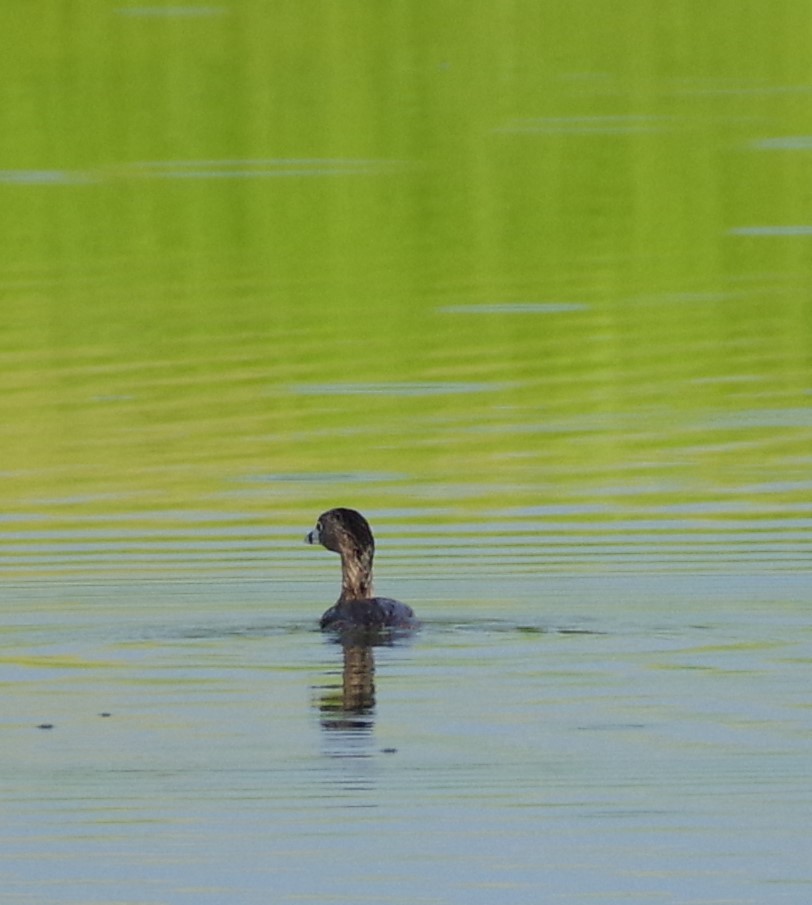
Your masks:
<path fill-rule="evenodd" d="M 797 564 L 806 21 L 6 5 L 12 540 L 123 513 L 298 532 L 336 502 L 455 524 L 587 505 L 582 526 L 732 507 L 801 519 Z"/>

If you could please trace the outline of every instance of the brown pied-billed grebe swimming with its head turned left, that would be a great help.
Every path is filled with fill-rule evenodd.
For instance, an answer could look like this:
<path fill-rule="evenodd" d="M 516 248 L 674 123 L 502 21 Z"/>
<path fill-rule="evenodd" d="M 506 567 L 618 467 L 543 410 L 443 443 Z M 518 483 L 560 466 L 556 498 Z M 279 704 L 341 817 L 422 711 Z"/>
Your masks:
<path fill-rule="evenodd" d="M 354 509 L 330 509 L 305 536 L 341 557 L 341 596 L 321 617 L 321 627 L 337 629 L 416 628 L 412 608 L 388 597 L 372 596 L 375 541 L 369 523 Z"/>

